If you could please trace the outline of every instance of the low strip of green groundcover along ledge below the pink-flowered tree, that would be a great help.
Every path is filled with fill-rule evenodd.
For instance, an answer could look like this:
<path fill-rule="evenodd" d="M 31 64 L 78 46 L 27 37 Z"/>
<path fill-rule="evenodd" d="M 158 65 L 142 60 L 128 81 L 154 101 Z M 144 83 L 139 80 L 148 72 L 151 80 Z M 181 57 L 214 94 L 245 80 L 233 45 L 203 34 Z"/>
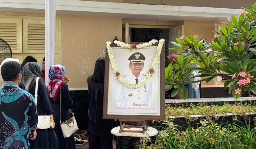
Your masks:
<path fill-rule="evenodd" d="M 256 113 L 255 103 L 242 103 L 237 102 L 236 104 L 224 103 L 224 105 L 207 105 L 206 103 L 198 104 L 180 104 L 172 103 L 165 104 L 165 113 L 168 117 L 170 116 L 184 116 L 188 119 L 191 115 L 205 115 L 207 117 L 217 118 L 219 115 L 225 115 L 226 113 L 233 113 L 243 116 L 248 113 Z"/>

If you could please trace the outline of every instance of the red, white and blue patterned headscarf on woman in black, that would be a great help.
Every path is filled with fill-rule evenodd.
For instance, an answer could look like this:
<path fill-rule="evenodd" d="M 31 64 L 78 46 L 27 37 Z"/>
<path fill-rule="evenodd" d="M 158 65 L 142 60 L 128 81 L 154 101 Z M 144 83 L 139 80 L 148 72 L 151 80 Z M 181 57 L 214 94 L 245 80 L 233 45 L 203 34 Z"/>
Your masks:
<path fill-rule="evenodd" d="M 49 71 L 50 82 L 48 83 L 47 90 L 52 100 L 56 100 L 59 89 L 62 84 L 62 79 L 65 75 L 65 67 L 62 65 L 53 65 Z"/>

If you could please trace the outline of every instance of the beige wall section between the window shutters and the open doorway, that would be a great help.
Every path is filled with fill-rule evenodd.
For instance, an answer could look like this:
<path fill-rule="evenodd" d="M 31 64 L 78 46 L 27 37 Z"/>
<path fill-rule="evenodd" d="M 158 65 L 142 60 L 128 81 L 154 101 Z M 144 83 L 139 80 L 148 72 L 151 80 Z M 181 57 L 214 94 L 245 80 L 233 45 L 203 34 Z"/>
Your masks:
<path fill-rule="evenodd" d="M 106 41 L 122 37 L 121 18 L 61 16 L 62 65 L 70 77 L 69 88 L 87 87 L 96 59 L 105 57 Z M 79 65 L 80 64 L 80 65 Z M 81 69 L 83 68 L 84 69 Z M 84 74 L 82 74 L 82 71 Z"/>

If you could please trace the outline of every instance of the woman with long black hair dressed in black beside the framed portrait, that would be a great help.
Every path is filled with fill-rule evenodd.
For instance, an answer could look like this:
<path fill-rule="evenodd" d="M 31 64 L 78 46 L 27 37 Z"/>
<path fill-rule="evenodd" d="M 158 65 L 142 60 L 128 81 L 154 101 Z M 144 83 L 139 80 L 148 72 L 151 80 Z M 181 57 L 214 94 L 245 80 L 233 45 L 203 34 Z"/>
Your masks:
<path fill-rule="evenodd" d="M 102 119 L 105 58 L 95 63 L 93 75 L 87 79 L 89 94 L 89 149 L 112 149 L 113 120 Z"/>

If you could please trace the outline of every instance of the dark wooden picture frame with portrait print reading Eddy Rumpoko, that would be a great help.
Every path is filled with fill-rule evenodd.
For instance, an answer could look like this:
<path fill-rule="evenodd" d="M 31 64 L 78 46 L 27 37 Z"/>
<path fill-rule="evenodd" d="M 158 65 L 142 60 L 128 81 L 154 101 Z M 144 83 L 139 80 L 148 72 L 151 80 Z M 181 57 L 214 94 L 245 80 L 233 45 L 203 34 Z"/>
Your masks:
<path fill-rule="evenodd" d="M 130 44 L 137 45 L 140 43 L 141 42 Z M 128 58 L 139 52 L 140 57 L 142 57 L 142 55 L 146 57 L 141 71 L 141 74 L 145 76 L 151 67 L 154 57 L 156 56 L 158 44 L 159 42 L 156 42 L 155 44 L 146 48 L 133 48 L 131 51 L 130 48 L 122 48 L 114 43 L 111 43 L 110 47 L 113 49 L 112 51 L 115 64 L 117 65 L 120 75 L 124 79 L 126 76 L 128 77 L 129 75 L 132 75 L 131 66 L 135 65 L 132 65 Z M 154 69 L 155 72 L 152 74 L 152 77 L 144 86 L 132 89 L 125 87 L 122 82 L 117 80 L 117 76 L 111 66 L 109 53 L 106 52 L 103 119 L 135 118 L 145 120 L 164 120 L 164 60 L 163 45 L 159 62 Z M 144 98 L 146 94 L 149 98 Z M 131 103 L 126 102 L 127 98 L 128 100 L 132 98 L 129 100 Z M 142 99 L 148 100 L 143 102 Z M 119 104 L 120 101 L 122 101 L 122 104 Z"/>

